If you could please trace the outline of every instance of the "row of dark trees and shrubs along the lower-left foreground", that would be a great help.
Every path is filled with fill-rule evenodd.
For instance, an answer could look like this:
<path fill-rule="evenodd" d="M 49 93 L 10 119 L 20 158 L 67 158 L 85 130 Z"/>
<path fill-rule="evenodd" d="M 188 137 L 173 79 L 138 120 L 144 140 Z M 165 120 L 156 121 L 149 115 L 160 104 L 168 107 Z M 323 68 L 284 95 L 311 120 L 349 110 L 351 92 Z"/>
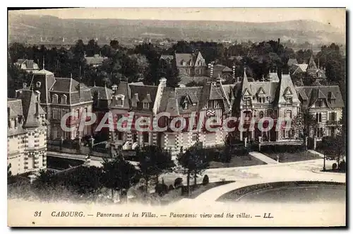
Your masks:
<path fill-rule="evenodd" d="M 102 167 L 80 165 L 66 172 L 55 173 L 51 170 L 41 170 L 37 179 L 33 182 L 32 192 L 40 199 L 52 199 L 61 189 L 63 193 L 72 194 L 74 198 L 95 198 L 102 189 L 110 189 L 112 198 L 119 192 L 121 201 L 127 201 L 127 192 L 131 187 L 140 185 L 138 190 L 145 195 L 150 194 L 151 186 L 155 185 L 155 193 L 163 196 L 173 185 L 160 183 L 160 175 L 165 172 L 181 172 L 187 176 L 187 191 L 190 191 L 191 177 L 201 175 L 208 168 L 210 158 L 197 143 L 177 157 L 177 166 L 172 160 L 169 151 L 158 146 L 145 146 L 138 148 L 138 165 L 131 164 L 121 154 L 113 158 L 104 159 Z M 8 165 L 8 180 L 11 181 L 11 165 Z M 176 180 L 174 186 L 180 186 L 181 181 Z M 58 195 L 58 194 L 56 194 Z M 59 194 L 59 197 L 64 194 Z M 144 195 L 144 196 L 145 196 Z"/>

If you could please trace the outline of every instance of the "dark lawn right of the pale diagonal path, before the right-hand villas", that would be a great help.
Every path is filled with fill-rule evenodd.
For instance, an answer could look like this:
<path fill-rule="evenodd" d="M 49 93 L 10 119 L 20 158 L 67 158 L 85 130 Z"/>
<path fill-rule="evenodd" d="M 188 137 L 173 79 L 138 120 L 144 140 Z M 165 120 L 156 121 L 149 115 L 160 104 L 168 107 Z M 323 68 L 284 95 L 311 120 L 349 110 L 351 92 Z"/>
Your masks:
<path fill-rule="evenodd" d="M 280 163 L 289 163 L 289 162 L 297 162 L 304 160 L 313 160 L 319 159 L 320 156 L 317 156 L 314 153 L 310 153 L 309 151 L 297 151 L 297 152 L 261 152 L 274 160 L 277 160 L 277 156 L 280 157 Z"/>

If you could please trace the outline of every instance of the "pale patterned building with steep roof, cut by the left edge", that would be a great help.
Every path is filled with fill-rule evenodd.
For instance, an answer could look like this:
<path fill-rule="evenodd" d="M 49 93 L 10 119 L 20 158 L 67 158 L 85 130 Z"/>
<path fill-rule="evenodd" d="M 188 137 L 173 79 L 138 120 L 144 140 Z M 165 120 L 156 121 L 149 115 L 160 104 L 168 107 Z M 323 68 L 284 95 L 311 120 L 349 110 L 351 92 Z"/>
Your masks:
<path fill-rule="evenodd" d="M 19 99 L 8 99 L 7 110 L 7 163 L 12 175 L 47 168 L 47 121 L 38 93 L 23 90 Z"/>

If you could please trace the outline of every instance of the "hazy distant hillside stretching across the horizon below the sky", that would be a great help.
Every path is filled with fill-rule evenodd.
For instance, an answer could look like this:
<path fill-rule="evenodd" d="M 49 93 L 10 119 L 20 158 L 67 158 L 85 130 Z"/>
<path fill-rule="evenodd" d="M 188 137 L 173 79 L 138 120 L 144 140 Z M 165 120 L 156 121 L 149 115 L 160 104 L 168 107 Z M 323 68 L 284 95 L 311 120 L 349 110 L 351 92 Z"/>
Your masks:
<path fill-rule="evenodd" d="M 119 16 L 117 16 L 119 17 Z M 45 37 L 138 38 L 173 40 L 294 40 L 345 44 L 345 34 L 316 21 L 244 23 L 232 21 L 152 21 L 125 19 L 61 19 L 53 16 L 10 14 L 9 38 Z M 37 38 L 37 39 L 36 39 Z M 24 39 L 25 40 L 25 39 Z"/>

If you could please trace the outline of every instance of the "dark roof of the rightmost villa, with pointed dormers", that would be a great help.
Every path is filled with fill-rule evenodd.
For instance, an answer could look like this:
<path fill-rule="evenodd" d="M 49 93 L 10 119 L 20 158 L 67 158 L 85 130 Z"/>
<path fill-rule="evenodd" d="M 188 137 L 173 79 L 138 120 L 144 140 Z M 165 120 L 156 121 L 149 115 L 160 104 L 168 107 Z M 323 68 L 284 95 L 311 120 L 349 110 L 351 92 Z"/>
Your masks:
<path fill-rule="evenodd" d="M 305 93 L 308 97 L 309 103 L 306 106 L 311 107 L 318 98 L 325 99 L 328 107 L 344 107 L 345 104 L 342 100 L 342 94 L 339 86 L 300 86 L 297 87 L 299 95 Z M 335 103 L 329 103 L 328 100 L 335 99 Z"/>

